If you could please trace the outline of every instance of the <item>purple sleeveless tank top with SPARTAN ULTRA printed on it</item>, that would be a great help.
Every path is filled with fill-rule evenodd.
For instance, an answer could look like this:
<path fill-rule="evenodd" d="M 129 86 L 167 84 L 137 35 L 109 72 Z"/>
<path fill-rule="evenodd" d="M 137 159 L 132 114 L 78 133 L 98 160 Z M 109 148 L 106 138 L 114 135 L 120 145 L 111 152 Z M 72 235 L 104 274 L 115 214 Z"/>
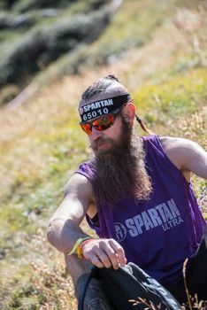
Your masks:
<path fill-rule="evenodd" d="M 99 227 L 87 215 L 100 237 L 114 238 L 132 261 L 164 284 L 177 283 L 183 261 L 195 254 L 206 225 L 191 185 L 165 154 L 156 135 L 142 137 L 145 163 L 153 185 L 146 202 L 122 199 L 113 210 L 102 205 Z M 95 168 L 80 165 L 79 174 L 92 180 Z"/>

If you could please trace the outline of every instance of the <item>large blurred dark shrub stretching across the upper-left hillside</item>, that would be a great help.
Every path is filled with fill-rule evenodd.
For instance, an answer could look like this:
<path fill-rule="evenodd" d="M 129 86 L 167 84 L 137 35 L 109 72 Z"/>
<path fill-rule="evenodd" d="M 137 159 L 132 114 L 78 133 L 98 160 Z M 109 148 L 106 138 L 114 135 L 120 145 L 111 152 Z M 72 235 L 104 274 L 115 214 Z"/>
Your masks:
<path fill-rule="evenodd" d="M 76 15 L 52 26 L 35 27 L 23 35 L 0 60 L 0 85 L 21 83 L 28 74 L 48 66 L 79 43 L 90 43 L 109 22 L 107 12 Z M 24 79 L 24 80 L 23 80 Z"/>

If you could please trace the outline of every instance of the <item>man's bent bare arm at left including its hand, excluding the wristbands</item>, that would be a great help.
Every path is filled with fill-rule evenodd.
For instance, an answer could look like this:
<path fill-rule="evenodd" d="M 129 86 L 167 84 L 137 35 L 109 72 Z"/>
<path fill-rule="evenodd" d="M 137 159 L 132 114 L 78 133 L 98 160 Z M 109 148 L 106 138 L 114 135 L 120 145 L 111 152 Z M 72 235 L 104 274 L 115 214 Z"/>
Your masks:
<path fill-rule="evenodd" d="M 80 229 L 80 222 L 89 205 L 94 202 L 93 189 L 85 176 L 74 174 L 67 185 L 67 194 L 52 216 L 48 229 L 48 240 L 58 251 L 69 253 L 80 237 L 87 236 Z M 84 257 L 96 267 L 119 268 L 126 264 L 125 252 L 114 239 L 92 239 L 82 248 Z"/>

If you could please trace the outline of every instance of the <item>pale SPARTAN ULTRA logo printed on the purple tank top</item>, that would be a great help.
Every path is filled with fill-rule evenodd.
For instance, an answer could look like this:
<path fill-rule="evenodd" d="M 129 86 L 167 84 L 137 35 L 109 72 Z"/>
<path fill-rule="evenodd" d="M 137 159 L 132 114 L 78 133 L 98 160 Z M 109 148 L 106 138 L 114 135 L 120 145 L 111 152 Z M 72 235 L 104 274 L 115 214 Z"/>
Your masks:
<path fill-rule="evenodd" d="M 177 205 L 173 199 L 170 199 L 166 203 L 156 205 L 133 218 L 126 219 L 124 224 L 115 223 L 115 229 L 118 241 L 123 241 L 127 233 L 129 236 L 139 236 L 156 227 L 161 227 L 166 231 L 179 226 L 182 222 L 184 221 Z"/>

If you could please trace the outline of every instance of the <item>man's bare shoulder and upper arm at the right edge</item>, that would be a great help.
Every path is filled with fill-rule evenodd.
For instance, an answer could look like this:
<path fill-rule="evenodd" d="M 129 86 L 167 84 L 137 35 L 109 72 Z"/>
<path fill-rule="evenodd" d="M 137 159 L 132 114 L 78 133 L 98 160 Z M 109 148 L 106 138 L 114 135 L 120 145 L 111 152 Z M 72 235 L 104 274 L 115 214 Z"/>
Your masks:
<path fill-rule="evenodd" d="M 192 172 L 207 179 L 207 152 L 188 139 L 161 137 L 165 152 L 173 164 L 183 173 Z"/>

